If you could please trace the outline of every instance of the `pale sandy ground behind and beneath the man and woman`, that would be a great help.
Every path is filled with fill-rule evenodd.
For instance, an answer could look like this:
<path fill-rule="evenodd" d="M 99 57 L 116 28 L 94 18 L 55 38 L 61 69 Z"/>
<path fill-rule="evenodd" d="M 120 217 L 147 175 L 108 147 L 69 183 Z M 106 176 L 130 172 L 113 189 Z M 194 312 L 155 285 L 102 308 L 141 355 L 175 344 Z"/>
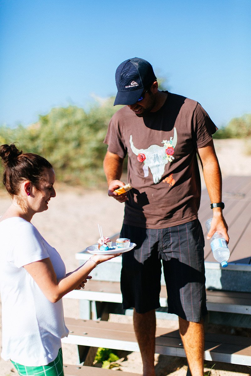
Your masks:
<path fill-rule="evenodd" d="M 242 140 L 215 140 L 216 152 L 222 170 L 222 176 L 250 175 L 251 156 L 243 152 Z M 238 158 L 233 151 L 238 150 Z M 202 180 L 203 181 L 203 180 Z M 202 183 L 204 186 L 204 183 Z M 57 189 L 58 188 L 58 189 Z M 123 204 L 107 196 L 106 190 L 89 191 L 75 187 L 55 186 L 57 196 L 49 203 L 46 212 L 36 214 L 32 223 L 41 232 L 43 237 L 61 254 L 65 262 L 67 272 L 78 267 L 75 253 L 80 252 L 91 244 L 95 244 L 99 238 L 97 223 L 102 225 L 105 235 L 113 235 L 120 231 L 123 221 Z M 0 192 L 0 215 L 3 214 L 10 204 L 10 199 L 4 191 Z M 64 299 L 64 312 L 68 317 L 79 317 L 78 302 Z M 110 320 L 130 321 L 131 317 L 116 317 L 111 315 Z M 158 325 L 173 325 L 176 321 L 158 321 Z M 2 325 L 0 327 L 2 337 Z M 245 331 L 244 331 L 245 332 Z M 2 346 L 2 338 L 1 338 Z M 76 364 L 75 345 L 63 345 L 65 363 Z M 120 369 L 141 374 L 141 358 L 138 353 L 122 353 L 125 358 L 121 361 Z M 186 375 L 186 359 L 169 356 L 155 356 L 157 376 L 167 374 L 175 376 Z M 207 373 L 213 366 L 212 362 L 205 362 Z M 112 371 L 111 371 L 112 372 Z M 5 362 L 0 358 L 0 376 L 15 375 L 17 372 L 11 362 Z M 95 373 L 94 373 L 95 374 Z M 123 375 L 123 373 L 121 373 Z M 251 368 L 246 366 L 216 363 L 211 375 L 221 376 L 244 376 L 250 375 Z"/>

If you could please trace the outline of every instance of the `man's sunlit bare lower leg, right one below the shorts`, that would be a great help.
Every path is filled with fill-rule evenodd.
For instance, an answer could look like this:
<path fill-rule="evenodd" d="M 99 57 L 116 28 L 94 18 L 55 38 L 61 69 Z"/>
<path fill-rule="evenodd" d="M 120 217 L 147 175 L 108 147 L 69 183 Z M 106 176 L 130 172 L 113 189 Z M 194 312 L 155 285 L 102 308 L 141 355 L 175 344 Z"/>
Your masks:
<path fill-rule="evenodd" d="M 204 375 L 204 323 L 193 323 L 179 317 L 180 335 L 192 376 Z"/>

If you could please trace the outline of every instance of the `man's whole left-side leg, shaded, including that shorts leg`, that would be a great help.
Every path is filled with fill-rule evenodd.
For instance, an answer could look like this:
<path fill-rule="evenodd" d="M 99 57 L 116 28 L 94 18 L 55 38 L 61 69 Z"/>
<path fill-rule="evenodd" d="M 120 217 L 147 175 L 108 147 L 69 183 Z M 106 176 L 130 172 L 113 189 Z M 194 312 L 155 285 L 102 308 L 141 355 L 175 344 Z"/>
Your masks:
<path fill-rule="evenodd" d="M 123 308 L 135 308 L 134 330 L 143 362 L 143 376 L 155 376 L 155 309 L 160 307 L 161 278 L 158 230 L 123 224 L 120 236 L 137 244 L 133 250 L 122 254 Z"/>

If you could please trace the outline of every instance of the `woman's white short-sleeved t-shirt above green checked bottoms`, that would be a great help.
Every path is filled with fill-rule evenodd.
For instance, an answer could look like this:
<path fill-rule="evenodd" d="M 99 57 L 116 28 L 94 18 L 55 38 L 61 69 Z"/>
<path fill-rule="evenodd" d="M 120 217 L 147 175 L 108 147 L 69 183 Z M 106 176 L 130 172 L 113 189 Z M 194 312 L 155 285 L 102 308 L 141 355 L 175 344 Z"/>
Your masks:
<path fill-rule="evenodd" d="M 27 366 L 46 365 L 69 333 L 62 299 L 51 303 L 23 267 L 50 257 L 57 278 L 65 276 L 59 253 L 23 218 L 0 222 L 0 292 L 3 359 Z"/>

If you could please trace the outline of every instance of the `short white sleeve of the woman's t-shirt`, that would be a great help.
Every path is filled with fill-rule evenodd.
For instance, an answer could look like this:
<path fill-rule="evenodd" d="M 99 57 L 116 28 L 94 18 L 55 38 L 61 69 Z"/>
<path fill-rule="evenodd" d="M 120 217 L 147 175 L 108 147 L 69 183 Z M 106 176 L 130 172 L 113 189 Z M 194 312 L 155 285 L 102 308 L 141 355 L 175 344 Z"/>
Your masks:
<path fill-rule="evenodd" d="M 13 262 L 20 268 L 49 257 L 43 238 L 31 223 L 22 223 L 15 231 Z"/>

